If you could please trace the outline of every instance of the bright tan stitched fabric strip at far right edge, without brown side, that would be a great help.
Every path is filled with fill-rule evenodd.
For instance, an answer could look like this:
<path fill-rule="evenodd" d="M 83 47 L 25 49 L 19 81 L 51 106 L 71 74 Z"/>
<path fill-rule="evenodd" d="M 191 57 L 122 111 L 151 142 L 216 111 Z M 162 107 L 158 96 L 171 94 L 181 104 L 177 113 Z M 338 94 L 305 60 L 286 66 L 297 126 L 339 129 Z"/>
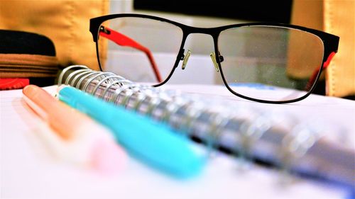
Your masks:
<path fill-rule="evenodd" d="M 340 37 L 326 73 L 327 95 L 355 95 L 355 1 L 324 0 L 324 30 Z"/>

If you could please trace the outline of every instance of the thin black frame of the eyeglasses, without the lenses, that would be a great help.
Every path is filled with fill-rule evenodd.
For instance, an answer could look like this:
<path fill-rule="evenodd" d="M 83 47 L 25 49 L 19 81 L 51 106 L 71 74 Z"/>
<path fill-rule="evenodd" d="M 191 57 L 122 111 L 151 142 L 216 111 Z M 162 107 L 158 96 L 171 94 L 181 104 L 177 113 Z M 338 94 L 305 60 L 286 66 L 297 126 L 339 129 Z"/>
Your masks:
<path fill-rule="evenodd" d="M 290 25 L 290 24 L 283 24 L 283 23 L 238 23 L 238 24 L 231 24 L 231 25 L 224 25 L 224 26 L 219 26 L 219 27 L 215 27 L 215 28 L 197 28 L 197 27 L 192 27 L 190 25 L 185 25 L 182 23 L 178 23 L 175 21 L 170 21 L 166 18 L 160 18 L 158 16 L 149 16 L 149 15 L 144 15 L 144 14 L 136 14 L 136 13 L 122 13 L 122 14 L 111 14 L 111 15 L 107 15 L 107 16 L 99 16 L 97 18 L 91 18 L 90 19 L 90 26 L 89 26 L 89 30 L 92 33 L 92 37 L 94 42 L 96 43 L 96 51 L 97 51 L 97 61 L 99 62 L 99 68 L 101 71 L 103 71 L 101 63 L 100 63 L 100 59 L 99 59 L 99 46 L 98 46 L 98 37 L 99 37 L 99 28 L 100 25 L 107 20 L 113 19 L 113 18 L 124 18 L 124 17 L 136 17 L 136 18 L 149 18 L 149 19 L 153 19 L 153 20 L 157 20 L 157 21 L 163 21 L 166 23 L 170 23 L 173 25 L 178 26 L 179 28 L 181 28 L 182 30 L 182 42 L 180 45 L 180 50 L 178 52 L 178 55 L 176 57 L 175 60 L 175 64 L 173 65 L 173 68 L 170 72 L 170 74 L 168 75 L 168 77 L 160 82 L 159 84 L 155 84 L 153 86 L 161 86 L 163 84 L 165 84 L 170 77 L 173 75 L 175 69 L 178 67 L 178 64 L 180 62 L 180 60 L 183 59 L 184 52 L 185 49 L 183 48 L 185 45 L 185 41 L 187 39 L 187 36 L 192 34 L 192 33 L 202 33 L 202 34 L 207 34 L 207 35 L 211 35 L 214 41 L 214 53 L 216 55 L 216 62 L 218 64 L 219 67 L 219 72 L 221 73 L 222 76 L 222 80 L 224 82 L 224 85 L 226 86 L 226 88 L 233 93 L 236 96 L 239 96 L 241 98 L 245 98 L 247 100 L 250 101 L 257 101 L 257 102 L 261 102 L 261 103 L 293 103 L 296 101 L 301 101 L 304 98 L 307 98 L 307 96 L 310 95 L 310 93 L 312 93 L 312 91 L 315 89 L 315 86 L 317 85 L 317 81 L 320 79 L 320 74 L 322 74 L 322 70 L 324 68 L 324 64 L 328 64 L 330 59 L 332 59 L 332 56 L 334 55 L 334 53 L 337 52 L 338 50 L 338 45 L 339 45 L 339 37 L 337 35 L 332 35 L 329 33 L 324 33 L 320 30 L 315 30 L 315 29 L 311 29 L 311 28 L 305 28 L 299 25 Z M 261 100 L 261 99 L 257 99 L 257 98 L 250 98 L 248 96 L 244 96 L 241 95 L 239 93 L 236 93 L 235 91 L 233 91 L 233 89 L 231 89 L 228 85 L 228 83 L 226 82 L 226 79 L 224 78 L 223 75 L 223 69 L 221 67 L 221 62 L 222 60 L 220 59 L 219 56 L 219 50 L 218 50 L 218 38 L 219 38 L 219 34 L 226 29 L 229 28 L 240 28 L 240 27 L 245 27 L 245 26 L 270 26 L 270 27 L 278 27 L 278 28 L 291 28 L 291 29 L 295 29 L 295 30 L 302 30 L 305 31 L 307 33 L 312 33 L 313 35 L 316 35 L 318 38 L 320 38 L 320 40 L 322 40 L 323 45 L 324 45 L 324 53 L 323 53 L 323 59 L 322 59 L 322 66 L 320 66 L 319 72 L 317 74 L 317 77 L 315 79 L 315 82 L 312 85 L 312 88 L 310 89 L 310 91 L 307 91 L 307 93 L 305 94 L 305 96 L 301 96 L 300 98 L 295 98 L 293 100 L 287 100 L 287 101 L 266 101 L 266 100 Z"/>

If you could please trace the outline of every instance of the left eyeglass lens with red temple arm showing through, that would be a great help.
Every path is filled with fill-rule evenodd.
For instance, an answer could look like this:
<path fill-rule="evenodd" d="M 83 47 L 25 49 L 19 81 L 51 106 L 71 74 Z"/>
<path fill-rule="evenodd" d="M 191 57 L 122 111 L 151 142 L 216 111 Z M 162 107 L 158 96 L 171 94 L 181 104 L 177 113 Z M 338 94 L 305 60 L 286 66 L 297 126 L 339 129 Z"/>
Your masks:
<path fill-rule="evenodd" d="M 114 18 L 100 27 L 98 45 L 103 42 L 108 42 L 109 47 L 107 62 L 100 59 L 105 71 L 153 85 L 167 79 L 172 71 L 182 30 L 149 18 Z"/>

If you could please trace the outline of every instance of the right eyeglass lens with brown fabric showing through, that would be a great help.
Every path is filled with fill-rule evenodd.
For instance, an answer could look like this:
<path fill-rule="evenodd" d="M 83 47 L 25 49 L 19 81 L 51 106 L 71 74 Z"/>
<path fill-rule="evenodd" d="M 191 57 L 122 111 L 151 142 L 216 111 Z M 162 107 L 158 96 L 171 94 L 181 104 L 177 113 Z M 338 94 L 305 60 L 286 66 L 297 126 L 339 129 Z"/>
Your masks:
<path fill-rule="evenodd" d="M 229 88 L 267 101 L 305 96 L 315 84 L 324 53 L 323 42 L 316 35 L 272 26 L 224 30 L 218 48 Z"/>

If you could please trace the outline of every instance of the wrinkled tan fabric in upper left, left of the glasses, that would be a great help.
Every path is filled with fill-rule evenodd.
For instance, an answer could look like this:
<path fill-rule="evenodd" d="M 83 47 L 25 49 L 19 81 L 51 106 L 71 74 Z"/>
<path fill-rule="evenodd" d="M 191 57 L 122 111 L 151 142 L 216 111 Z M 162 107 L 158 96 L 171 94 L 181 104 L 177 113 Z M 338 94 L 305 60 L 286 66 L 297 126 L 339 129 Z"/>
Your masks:
<path fill-rule="evenodd" d="M 109 12 L 107 0 L 1 1 L 0 29 L 45 35 L 55 44 L 60 65 L 98 69 L 89 19 Z M 102 46 L 102 50 L 107 47 Z"/>

